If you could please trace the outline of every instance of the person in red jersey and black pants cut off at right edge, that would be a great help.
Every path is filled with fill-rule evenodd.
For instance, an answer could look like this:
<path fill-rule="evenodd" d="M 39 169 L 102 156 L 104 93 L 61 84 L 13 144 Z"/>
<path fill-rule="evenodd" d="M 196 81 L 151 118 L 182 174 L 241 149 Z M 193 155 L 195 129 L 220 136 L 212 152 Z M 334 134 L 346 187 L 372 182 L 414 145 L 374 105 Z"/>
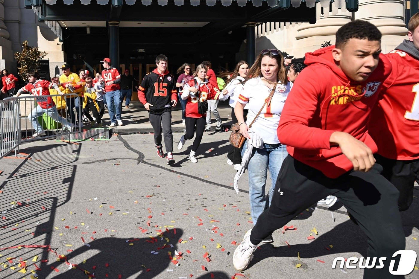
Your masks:
<path fill-rule="evenodd" d="M 408 28 L 409 39 L 385 54 L 393 70 L 368 128 L 378 146 L 374 157 L 383 166 L 383 176 L 400 191 L 400 211 L 412 204 L 419 175 L 419 13 L 410 18 Z"/>

